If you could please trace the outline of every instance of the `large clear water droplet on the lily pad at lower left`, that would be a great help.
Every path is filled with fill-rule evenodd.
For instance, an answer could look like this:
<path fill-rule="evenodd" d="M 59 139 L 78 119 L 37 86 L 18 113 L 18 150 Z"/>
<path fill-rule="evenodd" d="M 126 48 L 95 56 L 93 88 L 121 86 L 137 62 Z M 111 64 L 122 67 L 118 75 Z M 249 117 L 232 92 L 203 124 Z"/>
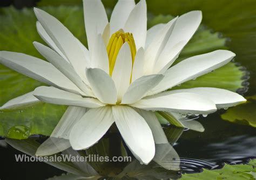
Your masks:
<path fill-rule="evenodd" d="M 30 136 L 30 129 L 25 126 L 14 126 L 9 129 L 7 137 L 12 139 L 23 140 Z"/>

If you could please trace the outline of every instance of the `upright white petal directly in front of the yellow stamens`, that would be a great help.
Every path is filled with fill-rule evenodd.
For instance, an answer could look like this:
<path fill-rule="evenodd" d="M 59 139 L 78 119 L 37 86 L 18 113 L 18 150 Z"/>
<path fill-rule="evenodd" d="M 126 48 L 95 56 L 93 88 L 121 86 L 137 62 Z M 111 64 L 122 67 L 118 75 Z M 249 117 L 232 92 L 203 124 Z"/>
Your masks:
<path fill-rule="evenodd" d="M 130 46 L 128 43 L 125 43 L 118 55 L 116 64 L 114 65 L 112 79 L 117 88 L 117 101 L 121 102 L 124 93 L 127 88 L 130 86 L 132 71 L 132 57 Z"/>

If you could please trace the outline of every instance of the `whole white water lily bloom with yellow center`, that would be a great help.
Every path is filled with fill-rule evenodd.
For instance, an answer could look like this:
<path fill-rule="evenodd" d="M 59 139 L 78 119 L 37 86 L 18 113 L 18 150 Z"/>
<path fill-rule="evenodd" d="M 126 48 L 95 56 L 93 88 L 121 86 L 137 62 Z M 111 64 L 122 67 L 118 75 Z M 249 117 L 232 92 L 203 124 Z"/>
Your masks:
<path fill-rule="evenodd" d="M 70 146 L 89 148 L 116 123 L 132 154 L 147 164 L 155 155 L 155 143 L 168 143 L 152 111 L 173 116 L 209 114 L 246 101 L 218 88 L 166 91 L 227 64 L 235 56 L 218 50 L 172 66 L 196 32 L 201 11 L 147 30 L 145 0 L 138 4 L 119 0 L 110 22 L 100 0 L 83 3 L 89 50 L 56 18 L 35 8 L 38 33 L 50 47 L 34 45 L 49 63 L 22 53 L 0 52 L 3 65 L 50 85 L 10 100 L 1 109 L 29 106 L 39 100 L 69 106 L 52 132 L 58 149 L 51 153 Z M 41 151 L 42 147 L 37 154 L 49 154 Z"/>

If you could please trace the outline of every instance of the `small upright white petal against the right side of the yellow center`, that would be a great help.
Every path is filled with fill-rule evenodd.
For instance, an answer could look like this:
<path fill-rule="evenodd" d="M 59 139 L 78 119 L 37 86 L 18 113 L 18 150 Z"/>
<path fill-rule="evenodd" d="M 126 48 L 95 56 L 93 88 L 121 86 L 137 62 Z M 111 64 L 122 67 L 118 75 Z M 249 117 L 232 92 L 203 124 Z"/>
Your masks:
<path fill-rule="evenodd" d="M 132 67 L 132 82 L 143 76 L 144 60 L 144 49 L 140 47 L 136 53 Z"/>

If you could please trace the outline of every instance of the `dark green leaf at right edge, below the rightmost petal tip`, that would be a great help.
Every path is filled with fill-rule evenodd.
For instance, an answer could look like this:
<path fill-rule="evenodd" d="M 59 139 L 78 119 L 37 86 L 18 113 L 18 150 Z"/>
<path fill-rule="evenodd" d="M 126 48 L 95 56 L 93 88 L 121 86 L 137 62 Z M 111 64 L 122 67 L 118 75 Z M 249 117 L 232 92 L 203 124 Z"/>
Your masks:
<path fill-rule="evenodd" d="M 256 95 L 246 98 L 248 101 L 232 107 L 221 115 L 221 118 L 233 123 L 246 124 L 256 127 Z"/>

